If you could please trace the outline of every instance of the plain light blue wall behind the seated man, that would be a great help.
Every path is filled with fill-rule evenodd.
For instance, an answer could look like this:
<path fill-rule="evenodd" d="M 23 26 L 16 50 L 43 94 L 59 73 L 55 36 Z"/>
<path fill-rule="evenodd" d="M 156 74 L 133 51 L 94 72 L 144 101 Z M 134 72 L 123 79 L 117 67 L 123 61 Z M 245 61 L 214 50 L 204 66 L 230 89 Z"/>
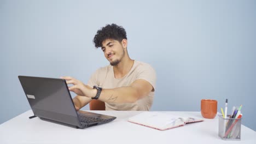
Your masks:
<path fill-rule="evenodd" d="M 130 57 L 157 73 L 154 111 L 243 104 L 256 130 L 255 1 L 0 1 L 0 123 L 30 109 L 18 75 L 88 81 L 108 64 L 92 39 L 124 26 Z M 74 96 L 74 94 L 72 94 Z M 89 107 L 85 106 L 84 110 Z"/>

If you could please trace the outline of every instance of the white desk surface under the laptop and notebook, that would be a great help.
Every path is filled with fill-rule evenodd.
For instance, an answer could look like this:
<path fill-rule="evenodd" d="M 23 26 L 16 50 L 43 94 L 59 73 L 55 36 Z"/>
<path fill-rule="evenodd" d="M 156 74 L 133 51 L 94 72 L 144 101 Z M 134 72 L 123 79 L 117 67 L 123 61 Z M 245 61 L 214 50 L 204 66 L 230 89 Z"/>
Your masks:
<path fill-rule="evenodd" d="M 92 111 L 115 116 L 113 122 L 85 129 L 50 123 L 33 115 L 31 110 L 0 125 L 0 143 L 256 143 L 256 132 L 242 125 L 241 141 L 218 137 L 218 116 L 204 122 L 160 131 L 127 122 L 141 111 Z M 168 112 L 201 117 L 200 112 Z"/>

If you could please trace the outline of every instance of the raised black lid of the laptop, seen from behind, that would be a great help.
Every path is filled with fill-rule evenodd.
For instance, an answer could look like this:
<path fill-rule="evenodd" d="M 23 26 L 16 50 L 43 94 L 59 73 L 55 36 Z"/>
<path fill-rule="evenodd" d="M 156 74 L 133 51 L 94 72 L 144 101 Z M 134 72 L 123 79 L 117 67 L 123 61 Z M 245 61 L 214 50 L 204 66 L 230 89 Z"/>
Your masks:
<path fill-rule="evenodd" d="M 31 76 L 19 76 L 19 80 L 35 116 L 79 123 L 65 80 Z"/>

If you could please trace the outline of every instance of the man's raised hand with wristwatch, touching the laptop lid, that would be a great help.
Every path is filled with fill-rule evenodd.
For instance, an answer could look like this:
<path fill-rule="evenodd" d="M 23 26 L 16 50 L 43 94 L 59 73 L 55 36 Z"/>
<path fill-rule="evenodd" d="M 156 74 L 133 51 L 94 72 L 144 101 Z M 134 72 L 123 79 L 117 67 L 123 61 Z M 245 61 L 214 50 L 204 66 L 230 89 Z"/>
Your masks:
<path fill-rule="evenodd" d="M 91 98 L 90 90 L 92 88 L 90 88 L 87 85 L 84 85 L 83 82 L 81 82 L 77 79 L 74 79 L 73 77 L 70 77 L 70 76 L 63 76 L 63 77 L 61 77 L 61 79 L 65 79 L 67 85 L 73 84 L 73 86 L 68 87 L 69 91 L 72 91 L 72 92 L 76 93 L 77 95 L 82 95 L 82 96 Z"/>

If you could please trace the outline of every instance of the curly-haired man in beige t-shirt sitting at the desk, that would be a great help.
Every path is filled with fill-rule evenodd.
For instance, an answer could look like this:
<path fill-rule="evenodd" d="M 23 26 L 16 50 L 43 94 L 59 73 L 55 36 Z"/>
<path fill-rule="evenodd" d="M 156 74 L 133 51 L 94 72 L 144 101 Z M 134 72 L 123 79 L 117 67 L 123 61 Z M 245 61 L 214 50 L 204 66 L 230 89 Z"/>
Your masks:
<path fill-rule="evenodd" d="M 105 102 L 106 110 L 148 111 L 153 103 L 156 74 L 147 63 L 132 60 L 127 53 L 125 29 L 106 25 L 94 37 L 95 47 L 101 47 L 110 65 L 96 70 L 88 85 L 73 77 L 62 77 L 73 84 L 69 91 L 79 110 L 92 99 Z"/>

